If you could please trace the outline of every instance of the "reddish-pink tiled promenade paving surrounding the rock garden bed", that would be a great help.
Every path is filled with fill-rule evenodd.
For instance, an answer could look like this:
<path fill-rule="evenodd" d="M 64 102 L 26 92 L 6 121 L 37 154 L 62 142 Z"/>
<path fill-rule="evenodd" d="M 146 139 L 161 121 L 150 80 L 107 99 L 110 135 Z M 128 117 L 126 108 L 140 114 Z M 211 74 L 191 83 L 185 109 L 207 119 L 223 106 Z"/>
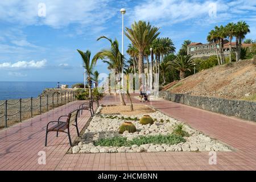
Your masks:
<path fill-rule="evenodd" d="M 209 165 L 208 152 L 66 154 L 69 143 L 64 133 L 58 138 L 49 133 L 48 146 L 44 147 L 47 122 L 76 109 L 80 103 L 71 102 L 0 131 L 0 170 L 256 170 L 256 123 L 170 101 L 152 101 L 148 105 L 221 140 L 234 151 L 217 152 L 217 164 Z M 115 103 L 119 103 L 115 96 L 106 96 L 102 101 Z M 89 112 L 79 118 L 80 130 L 88 119 Z M 75 128 L 71 133 L 75 140 Z M 46 165 L 38 164 L 39 151 L 46 152 Z"/>

